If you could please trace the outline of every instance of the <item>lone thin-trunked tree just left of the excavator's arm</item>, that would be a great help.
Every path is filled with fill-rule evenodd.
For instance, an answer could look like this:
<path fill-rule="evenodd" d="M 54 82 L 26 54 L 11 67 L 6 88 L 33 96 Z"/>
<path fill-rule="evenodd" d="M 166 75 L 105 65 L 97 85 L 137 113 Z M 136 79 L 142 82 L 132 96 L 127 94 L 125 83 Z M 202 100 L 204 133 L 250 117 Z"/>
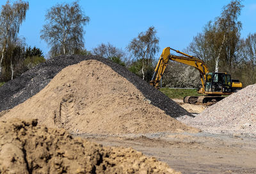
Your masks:
<path fill-rule="evenodd" d="M 155 54 L 159 52 L 159 39 L 156 36 L 156 32 L 156 29 L 151 26 L 145 33 L 141 32 L 138 37 L 132 39 L 127 47 L 127 49 L 132 52 L 134 58 L 141 60 L 143 80 L 145 78 L 145 64 L 147 66 L 152 63 Z"/>

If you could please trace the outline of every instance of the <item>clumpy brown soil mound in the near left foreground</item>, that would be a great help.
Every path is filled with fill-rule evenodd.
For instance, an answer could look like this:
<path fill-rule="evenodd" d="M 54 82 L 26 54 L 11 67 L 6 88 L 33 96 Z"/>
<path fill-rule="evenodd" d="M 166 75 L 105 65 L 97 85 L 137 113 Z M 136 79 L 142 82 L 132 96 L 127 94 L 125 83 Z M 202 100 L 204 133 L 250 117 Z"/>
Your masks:
<path fill-rule="evenodd" d="M 0 122 L 0 173 L 180 173 L 132 148 L 102 147 L 37 120 Z"/>

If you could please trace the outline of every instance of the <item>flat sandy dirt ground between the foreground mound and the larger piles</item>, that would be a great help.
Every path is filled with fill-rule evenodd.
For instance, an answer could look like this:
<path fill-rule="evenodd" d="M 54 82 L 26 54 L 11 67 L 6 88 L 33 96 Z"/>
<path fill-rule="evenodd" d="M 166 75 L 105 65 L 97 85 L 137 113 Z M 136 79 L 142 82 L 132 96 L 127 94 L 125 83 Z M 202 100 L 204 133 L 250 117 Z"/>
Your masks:
<path fill-rule="evenodd" d="M 79 135 L 154 156 L 182 173 L 256 173 L 256 139 L 216 134 Z"/>

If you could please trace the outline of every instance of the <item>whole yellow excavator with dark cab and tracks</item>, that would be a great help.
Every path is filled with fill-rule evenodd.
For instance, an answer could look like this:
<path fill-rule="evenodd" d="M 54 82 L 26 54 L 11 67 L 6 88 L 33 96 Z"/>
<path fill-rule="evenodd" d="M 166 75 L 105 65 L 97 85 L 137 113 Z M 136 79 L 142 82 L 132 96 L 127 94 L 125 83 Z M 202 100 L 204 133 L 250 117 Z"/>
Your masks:
<path fill-rule="evenodd" d="M 170 50 L 182 54 L 183 56 L 171 54 Z M 237 90 L 241 90 L 243 87 L 243 84 L 238 80 L 232 80 L 230 74 L 227 74 L 226 72 L 209 72 L 207 65 L 205 65 L 204 61 L 201 59 L 189 56 L 184 52 L 180 52 L 170 47 L 164 48 L 159 58 L 152 81 L 150 81 L 152 86 L 159 88 L 159 83 L 163 77 L 164 70 L 166 69 L 169 60 L 195 67 L 200 72 L 202 88 L 198 90 L 198 93 L 204 95 L 184 97 L 184 103 L 195 104 L 196 102 L 218 102 L 225 98 L 222 95 L 230 95 Z"/>

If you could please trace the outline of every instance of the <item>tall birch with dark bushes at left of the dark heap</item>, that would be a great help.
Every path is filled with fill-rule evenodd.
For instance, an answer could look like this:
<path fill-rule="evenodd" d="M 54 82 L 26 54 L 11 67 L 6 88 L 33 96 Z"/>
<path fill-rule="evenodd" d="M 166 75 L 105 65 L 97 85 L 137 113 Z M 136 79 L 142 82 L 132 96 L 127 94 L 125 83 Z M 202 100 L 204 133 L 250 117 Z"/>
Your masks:
<path fill-rule="evenodd" d="M 24 39 L 19 38 L 19 28 L 26 19 L 29 4 L 16 1 L 6 2 L 0 15 L 0 82 L 9 81 L 23 72 L 45 61 L 39 48 L 27 47 Z"/>

